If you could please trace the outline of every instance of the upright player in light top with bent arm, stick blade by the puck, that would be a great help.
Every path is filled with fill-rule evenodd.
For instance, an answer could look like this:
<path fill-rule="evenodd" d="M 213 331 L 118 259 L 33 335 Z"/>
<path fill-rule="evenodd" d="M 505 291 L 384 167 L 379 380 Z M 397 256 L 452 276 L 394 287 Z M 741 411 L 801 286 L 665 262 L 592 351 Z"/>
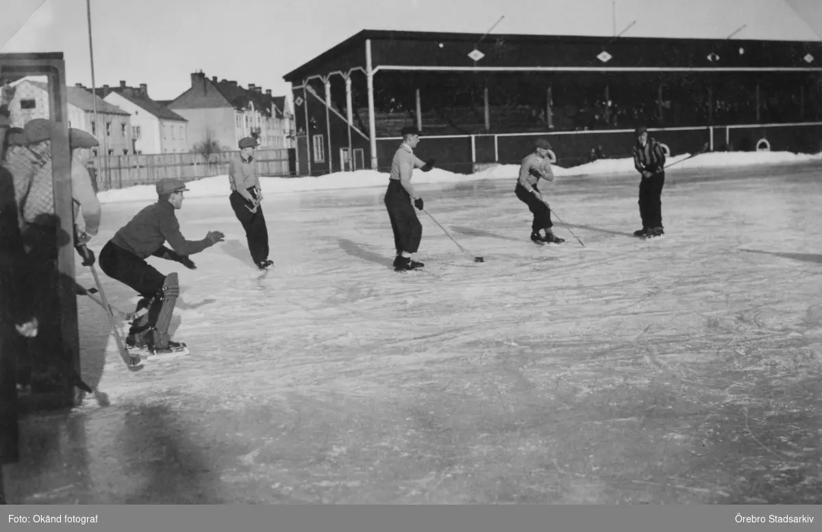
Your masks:
<path fill-rule="evenodd" d="M 394 232 L 396 250 L 394 269 L 398 272 L 423 268 L 425 265 L 411 259 L 411 254 L 417 253 L 420 241 L 423 239 L 423 225 L 413 210 L 414 207 L 423 210 L 423 198 L 414 190 L 411 175 L 414 168 L 429 172 L 434 167 L 434 159 L 423 162 L 413 154 L 413 149 L 419 143 L 420 135 L 416 127 L 405 126 L 400 134 L 403 142 L 399 144 L 394 159 L 391 161 L 388 189 L 384 198 L 391 222 L 391 231 Z"/>

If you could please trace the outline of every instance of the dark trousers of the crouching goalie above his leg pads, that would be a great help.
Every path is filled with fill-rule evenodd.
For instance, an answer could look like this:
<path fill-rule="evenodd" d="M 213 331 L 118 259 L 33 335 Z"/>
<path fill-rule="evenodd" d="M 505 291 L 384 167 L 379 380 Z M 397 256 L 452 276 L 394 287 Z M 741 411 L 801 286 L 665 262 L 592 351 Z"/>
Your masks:
<path fill-rule="evenodd" d="M 147 326 L 153 326 L 162 309 L 162 300 L 155 299 L 155 296 L 163 290 L 165 276 L 145 262 L 145 259 L 141 259 L 131 251 L 123 250 L 111 241 L 106 242 L 100 250 L 97 263 L 106 275 L 122 282 L 142 296 L 142 300 L 137 303 L 137 309 L 149 305 L 153 300 L 153 304 L 149 307 L 147 320 Z M 140 320 L 132 323 L 129 334 L 139 332 L 136 329 L 137 321 Z"/>

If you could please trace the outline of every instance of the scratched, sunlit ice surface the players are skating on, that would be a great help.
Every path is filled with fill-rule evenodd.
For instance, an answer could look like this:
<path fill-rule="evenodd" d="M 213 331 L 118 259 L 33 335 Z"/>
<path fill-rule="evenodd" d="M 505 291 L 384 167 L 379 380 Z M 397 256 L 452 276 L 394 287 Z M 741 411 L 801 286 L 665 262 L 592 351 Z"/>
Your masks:
<path fill-rule="evenodd" d="M 566 222 L 553 218 L 566 241 L 543 246 L 514 180 L 420 184 L 427 212 L 485 262 L 418 212 L 426 267 L 409 273 L 390 266 L 384 188 L 266 195 L 265 274 L 227 197 L 186 199 L 187 238 L 226 235 L 192 255 L 196 270 L 150 259 L 178 272 L 172 329 L 192 354 L 128 372 L 81 297 L 83 378 L 110 406 L 86 397 L 28 420 L 30 457 L 9 493 L 822 502 L 822 167 L 669 172 L 654 241 L 632 236 L 638 181 L 543 186 Z M 104 204 L 90 247 L 145 204 Z M 103 279 L 133 310 L 136 294 Z M 35 464 L 38 452 L 50 458 Z"/>

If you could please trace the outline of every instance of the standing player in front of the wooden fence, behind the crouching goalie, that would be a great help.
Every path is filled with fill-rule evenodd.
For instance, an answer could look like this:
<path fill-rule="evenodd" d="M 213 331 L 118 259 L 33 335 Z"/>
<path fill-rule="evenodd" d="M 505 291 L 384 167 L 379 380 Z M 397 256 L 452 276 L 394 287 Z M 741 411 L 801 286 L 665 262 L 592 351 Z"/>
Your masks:
<path fill-rule="evenodd" d="M 256 174 L 254 149 L 257 141 L 245 137 L 238 143 L 240 154 L 229 166 L 229 202 L 234 215 L 242 224 L 248 241 L 248 251 L 257 268 L 266 269 L 274 264 L 268 259 L 268 227 L 262 212 L 262 190 Z"/>

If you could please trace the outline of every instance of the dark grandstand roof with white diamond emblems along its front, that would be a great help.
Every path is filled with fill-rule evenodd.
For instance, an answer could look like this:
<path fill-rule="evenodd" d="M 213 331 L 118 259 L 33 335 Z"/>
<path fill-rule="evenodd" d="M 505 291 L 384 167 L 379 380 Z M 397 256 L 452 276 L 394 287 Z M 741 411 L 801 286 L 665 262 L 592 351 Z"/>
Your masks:
<path fill-rule="evenodd" d="M 362 30 L 283 78 L 364 72 L 367 39 L 376 70 L 822 71 L 820 42 Z"/>

